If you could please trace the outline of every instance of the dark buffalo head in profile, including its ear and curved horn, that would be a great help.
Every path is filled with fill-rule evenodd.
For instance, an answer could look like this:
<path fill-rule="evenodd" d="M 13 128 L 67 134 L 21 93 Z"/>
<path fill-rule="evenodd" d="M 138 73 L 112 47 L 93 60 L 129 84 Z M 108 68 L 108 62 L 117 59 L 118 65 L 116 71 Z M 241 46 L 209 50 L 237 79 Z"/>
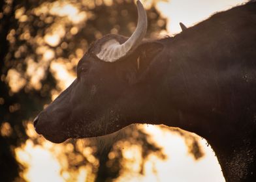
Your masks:
<path fill-rule="evenodd" d="M 35 118 L 37 133 L 59 143 L 106 135 L 143 120 L 140 111 L 149 107 L 146 75 L 163 47 L 142 40 L 147 17 L 140 1 L 137 8 L 138 25 L 130 38 L 109 34 L 90 45 L 74 82 Z"/>

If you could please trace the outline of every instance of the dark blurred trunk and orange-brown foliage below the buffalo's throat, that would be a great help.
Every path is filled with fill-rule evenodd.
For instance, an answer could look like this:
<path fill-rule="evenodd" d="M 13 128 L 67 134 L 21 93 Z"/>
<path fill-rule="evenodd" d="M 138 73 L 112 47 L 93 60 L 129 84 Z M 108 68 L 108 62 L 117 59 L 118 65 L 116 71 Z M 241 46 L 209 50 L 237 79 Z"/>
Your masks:
<path fill-rule="evenodd" d="M 148 141 L 149 135 L 138 129 L 136 125 L 126 127 L 121 132 L 114 133 L 114 135 L 106 136 L 104 139 L 98 139 L 95 144 L 101 148 L 96 153 L 99 159 L 100 166 L 98 168 L 97 177 L 95 181 L 112 181 L 121 174 L 121 170 L 125 168 L 122 162 L 124 148 L 129 148 L 133 145 L 141 146 L 142 153 L 140 163 L 140 174 L 144 173 L 144 162 L 147 157 L 154 153 L 160 159 L 165 159 L 162 149 L 157 144 Z M 114 140 L 113 140 L 114 138 Z M 110 140 L 108 144 L 102 144 Z M 128 144 L 127 144 L 128 141 Z M 125 143 L 122 144 L 122 143 Z"/>

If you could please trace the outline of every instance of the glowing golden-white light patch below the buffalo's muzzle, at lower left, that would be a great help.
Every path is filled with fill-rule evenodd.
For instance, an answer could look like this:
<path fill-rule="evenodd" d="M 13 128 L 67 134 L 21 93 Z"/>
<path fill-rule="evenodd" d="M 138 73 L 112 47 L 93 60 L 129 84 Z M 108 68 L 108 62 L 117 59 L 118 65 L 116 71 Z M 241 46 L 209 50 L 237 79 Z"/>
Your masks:
<path fill-rule="evenodd" d="M 93 181 L 95 175 L 88 164 L 72 169 L 69 162 L 80 162 L 78 155 L 69 156 L 74 148 L 72 144 L 53 144 L 39 137 L 33 129 L 33 124 L 27 122 L 27 135 L 30 137 L 20 148 L 15 149 L 16 159 L 25 167 L 22 177 L 27 181 Z M 39 144 L 35 144 L 37 142 Z M 79 140 L 78 140 L 79 141 Z M 82 144 L 81 142 L 79 142 Z M 93 150 L 86 153 L 86 157 L 93 156 Z M 94 160 L 95 157 L 93 156 Z M 82 159 L 83 160 L 83 159 Z"/>

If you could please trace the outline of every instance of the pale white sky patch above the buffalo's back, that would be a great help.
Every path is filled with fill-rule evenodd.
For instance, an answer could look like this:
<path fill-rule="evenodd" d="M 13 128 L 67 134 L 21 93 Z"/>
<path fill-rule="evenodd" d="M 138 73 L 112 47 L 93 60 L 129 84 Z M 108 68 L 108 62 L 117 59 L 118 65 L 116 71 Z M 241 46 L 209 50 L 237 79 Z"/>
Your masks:
<path fill-rule="evenodd" d="M 179 23 L 191 27 L 209 18 L 212 14 L 227 10 L 233 6 L 248 2 L 247 0 L 171 0 L 159 1 L 157 9 L 167 18 L 167 31 L 170 34 L 181 32 Z"/>

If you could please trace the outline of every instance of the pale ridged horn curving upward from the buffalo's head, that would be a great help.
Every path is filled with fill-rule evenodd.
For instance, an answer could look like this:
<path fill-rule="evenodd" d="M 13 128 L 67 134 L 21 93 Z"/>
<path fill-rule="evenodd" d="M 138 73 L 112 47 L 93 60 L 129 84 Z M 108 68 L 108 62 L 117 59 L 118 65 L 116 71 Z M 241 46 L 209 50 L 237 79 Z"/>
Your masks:
<path fill-rule="evenodd" d="M 136 3 L 138 10 L 138 23 L 135 32 L 133 32 L 131 37 L 121 45 L 115 39 L 108 40 L 101 46 L 101 51 L 97 54 L 99 59 L 106 62 L 115 62 L 121 57 L 127 55 L 127 53 L 132 49 L 135 49 L 144 38 L 148 27 L 147 14 L 142 3 L 140 3 L 140 1 L 137 1 Z"/>

